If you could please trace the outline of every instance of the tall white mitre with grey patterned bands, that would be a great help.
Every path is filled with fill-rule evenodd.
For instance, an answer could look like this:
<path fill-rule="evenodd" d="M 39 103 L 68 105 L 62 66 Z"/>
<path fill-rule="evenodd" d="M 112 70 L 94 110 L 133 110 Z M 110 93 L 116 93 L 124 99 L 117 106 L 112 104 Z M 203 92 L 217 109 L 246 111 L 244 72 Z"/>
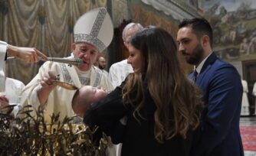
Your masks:
<path fill-rule="evenodd" d="M 102 52 L 113 39 L 113 23 L 106 8 L 88 11 L 74 24 L 74 42 L 87 42 Z"/>

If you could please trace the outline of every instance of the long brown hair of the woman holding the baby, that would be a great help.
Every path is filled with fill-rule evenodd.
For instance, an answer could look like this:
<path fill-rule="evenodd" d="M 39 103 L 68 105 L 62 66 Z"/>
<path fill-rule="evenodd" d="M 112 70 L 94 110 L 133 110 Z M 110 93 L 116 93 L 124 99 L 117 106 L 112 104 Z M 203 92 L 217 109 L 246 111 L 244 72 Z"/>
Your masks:
<path fill-rule="evenodd" d="M 156 105 L 156 140 L 163 142 L 177 134 L 185 138 L 189 128 L 199 125 L 202 94 L 182 72 L 172 36 L 162 28 L 149 28 L 134 34 L 130 44 L 141 53 L 145 73 L 132 73 L 127 77 L 124 101 L 136 105 L 133 116 L 137 121 L 139 117 L 144 119 L 139 110 L 146 105 L 148 89 Z"/>

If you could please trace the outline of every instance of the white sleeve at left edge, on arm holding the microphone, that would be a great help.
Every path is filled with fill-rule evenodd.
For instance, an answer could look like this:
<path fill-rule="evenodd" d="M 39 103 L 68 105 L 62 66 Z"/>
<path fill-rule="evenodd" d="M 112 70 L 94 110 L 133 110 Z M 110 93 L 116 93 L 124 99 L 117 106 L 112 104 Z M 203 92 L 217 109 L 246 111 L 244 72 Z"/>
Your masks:
<path fill-rule="evenodd" d="M 5 92 L 5 55 L 8 44 L 0 41 L 0 92 Z"/>

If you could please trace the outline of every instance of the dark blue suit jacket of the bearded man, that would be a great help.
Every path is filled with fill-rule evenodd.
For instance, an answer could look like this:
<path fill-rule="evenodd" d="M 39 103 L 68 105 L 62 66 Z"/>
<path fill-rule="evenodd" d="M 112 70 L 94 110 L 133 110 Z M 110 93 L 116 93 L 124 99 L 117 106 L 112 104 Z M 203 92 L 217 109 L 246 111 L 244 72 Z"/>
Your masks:
<path fill-rule="evenodd" d="M 193 75 L 189 75 L 193 79 Z M 206 108 L 202 113 L 202 138 L 196 156 L 244 155 L 239 119 L 243 89 L 235 67 L 212 53 L 196 80 Z"/>

